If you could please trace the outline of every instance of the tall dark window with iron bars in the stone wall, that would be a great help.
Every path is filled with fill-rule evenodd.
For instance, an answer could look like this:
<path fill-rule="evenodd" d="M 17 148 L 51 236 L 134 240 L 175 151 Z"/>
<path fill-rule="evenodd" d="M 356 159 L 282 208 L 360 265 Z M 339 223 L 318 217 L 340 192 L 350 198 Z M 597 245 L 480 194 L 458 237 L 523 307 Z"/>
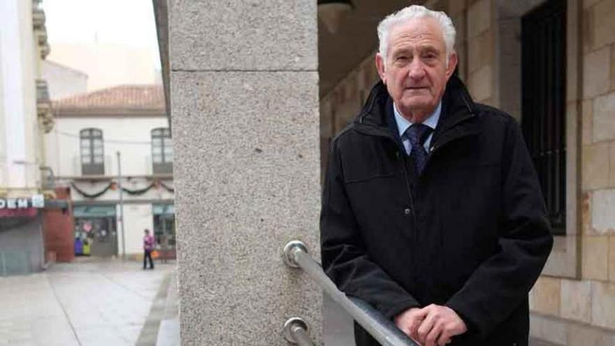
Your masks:
<path fill-rule="evenodd" d="M 566 1 L 550 0 L 521 19 L 523 136 L 555 234 L 566 225 Z"/>

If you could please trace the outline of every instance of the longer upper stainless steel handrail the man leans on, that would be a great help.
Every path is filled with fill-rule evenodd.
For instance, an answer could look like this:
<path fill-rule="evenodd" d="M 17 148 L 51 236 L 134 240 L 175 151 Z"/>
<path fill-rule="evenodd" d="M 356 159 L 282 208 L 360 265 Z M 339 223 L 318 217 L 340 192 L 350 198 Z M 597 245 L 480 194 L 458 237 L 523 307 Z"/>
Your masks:
<path fill-rule="evenodd" d="M 284 262 L 293 268 L 301 268 L 312 277 L 333 301 L 338 303 L 354 320 L 361 324 L 383 346 L 419 346 L 408 338 L 390 319 L 372 305 L 359 298 L 347 297 L 324 273 L 320 264 L 312 258 L 307 246 L 293 240 L 284 246 Z"/>

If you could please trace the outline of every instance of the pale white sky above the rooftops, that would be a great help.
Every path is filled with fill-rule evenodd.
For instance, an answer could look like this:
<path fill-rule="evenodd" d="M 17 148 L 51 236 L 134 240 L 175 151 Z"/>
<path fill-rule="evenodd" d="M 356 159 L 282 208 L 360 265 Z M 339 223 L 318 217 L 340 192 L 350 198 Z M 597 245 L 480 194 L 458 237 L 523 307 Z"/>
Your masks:
<path fill-rule="evenodd" d="M 48 41 L 150 48 L 160 68 L 152 0 L 43 0 Z"/>

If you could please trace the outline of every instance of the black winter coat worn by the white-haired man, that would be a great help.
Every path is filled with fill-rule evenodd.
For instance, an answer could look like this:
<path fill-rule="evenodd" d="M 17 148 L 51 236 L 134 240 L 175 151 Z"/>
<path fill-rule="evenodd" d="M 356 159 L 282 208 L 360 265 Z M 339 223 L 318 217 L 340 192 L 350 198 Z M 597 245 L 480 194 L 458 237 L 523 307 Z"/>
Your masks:
<path fill-rule="evenodd" d="M 553 244 L 519 126 L 452 77 L 423 173 L 400 146 L 379 82 L 331 145 L 321 258 L 386 317 L 430 303 L 468 325 L 452 345 L 527 345 L 528 291 Z M 361 328 L 357 345 L 378 345 Z"/>

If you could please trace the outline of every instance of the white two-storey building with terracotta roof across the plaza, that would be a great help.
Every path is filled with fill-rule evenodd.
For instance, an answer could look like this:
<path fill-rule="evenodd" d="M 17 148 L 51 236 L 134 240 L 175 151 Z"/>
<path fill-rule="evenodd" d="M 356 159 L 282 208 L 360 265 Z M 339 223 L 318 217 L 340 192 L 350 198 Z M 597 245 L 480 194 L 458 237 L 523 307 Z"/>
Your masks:
<path fill-rule="evenodd" d="M 150 229 L 175 257 L 173 143 L 161 85 L 120 85 L 53 105 L 45 155 L 56 184 L 70 190 L 75 241 L 92 256 L 140 257 Z"/>

